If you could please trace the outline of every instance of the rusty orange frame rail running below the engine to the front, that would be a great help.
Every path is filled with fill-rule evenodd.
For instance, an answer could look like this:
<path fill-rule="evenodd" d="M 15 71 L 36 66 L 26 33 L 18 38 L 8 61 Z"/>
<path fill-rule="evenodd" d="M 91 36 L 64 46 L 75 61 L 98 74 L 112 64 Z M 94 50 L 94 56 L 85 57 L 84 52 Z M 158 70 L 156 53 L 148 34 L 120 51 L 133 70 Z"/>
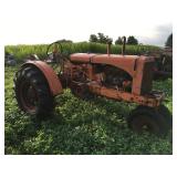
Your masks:
<path fill-rule="evenodd" d="M 107 88 L 106 86 L 103 86 L 95 81 L 91 81 L 88 83 L 80 83 L 72 81 L 71 88 L 72 90 L 77 88 L 79 90 L 77 93 L 80 94 L 82 93 L 84 94 L 85 93 L 84 90 L 87 88 L 88 92 L 95 95 L 105 96 L 107 98 L 116 101 L 137 103 L 139 105 L 145 105 L 149 107 L 158 107 L 165 97 L 165 94 L 160 91 L 153 91 L 152 93 L 146 95 L 137 95 L 117 88 Z M 84 97 L 84 95 L 80 97 Z"/>

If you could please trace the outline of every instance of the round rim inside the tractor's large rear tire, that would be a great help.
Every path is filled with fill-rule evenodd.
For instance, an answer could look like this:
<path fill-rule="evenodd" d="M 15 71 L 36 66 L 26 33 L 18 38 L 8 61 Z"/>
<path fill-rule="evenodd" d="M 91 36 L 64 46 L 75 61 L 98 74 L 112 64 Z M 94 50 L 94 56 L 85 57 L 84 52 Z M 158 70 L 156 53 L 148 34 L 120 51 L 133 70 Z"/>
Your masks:
<path fill-rule="evenodd" d="M 30 82 L 22 82 L 20 86 L 20 100 L 22 107 L 27 112 L 35 112 L 38 105 L 38 94 L 35 87 Z"/>

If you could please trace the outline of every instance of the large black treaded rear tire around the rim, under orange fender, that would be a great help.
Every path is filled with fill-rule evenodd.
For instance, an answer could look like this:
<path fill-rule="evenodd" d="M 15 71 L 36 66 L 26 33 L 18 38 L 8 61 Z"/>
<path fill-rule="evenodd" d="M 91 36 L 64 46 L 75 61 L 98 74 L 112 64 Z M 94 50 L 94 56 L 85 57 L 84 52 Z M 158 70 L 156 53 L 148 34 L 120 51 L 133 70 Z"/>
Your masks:
<path fill-rule="evenodd" d="M 48 81 L 45 80 L 43 73 L 34 67 L 27 66 L 22 67 L 15 73 L 14 76 L 14 92 L 15 98 L 19 107 L 31 115 L 37 116 L 48 116 L 53 112 L 54 108 L 54 97 L 50 92 L 50 87 Z M 30 111 L 24 106 L 21 98 L 21 84 L 23 82 L 29 82 L 35 88 L 35 94 L 38 97 L 38 104 L 35 105 L 35 110 Z"/>

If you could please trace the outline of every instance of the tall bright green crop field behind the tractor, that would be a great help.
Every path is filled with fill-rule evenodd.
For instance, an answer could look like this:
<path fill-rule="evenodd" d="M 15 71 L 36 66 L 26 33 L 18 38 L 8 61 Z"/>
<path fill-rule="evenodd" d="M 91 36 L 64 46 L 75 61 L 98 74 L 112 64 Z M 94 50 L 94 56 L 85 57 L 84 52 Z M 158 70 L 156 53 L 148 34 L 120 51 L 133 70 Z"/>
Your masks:
<path fill-rule="evenodd" d="M 106 53 L 106 44 L 100 43 L 63 43 L 63 52 L 71 54 L 76 52 L 91 52 L 91 53 Z M 46 44 L 35 44 L 35 45 L 7 45 L 6 51 L 13 53 L 14 58 L 22 62 L 30 54 L 38 54 L 40 59 L 46 58 Z M 126 45 L 126 54 L 143 54 L 147 51 L 158 51 L 158 46 L 153 45 Z M 112 45 L 112 53 L 121 53 L 122 45 Z"/>

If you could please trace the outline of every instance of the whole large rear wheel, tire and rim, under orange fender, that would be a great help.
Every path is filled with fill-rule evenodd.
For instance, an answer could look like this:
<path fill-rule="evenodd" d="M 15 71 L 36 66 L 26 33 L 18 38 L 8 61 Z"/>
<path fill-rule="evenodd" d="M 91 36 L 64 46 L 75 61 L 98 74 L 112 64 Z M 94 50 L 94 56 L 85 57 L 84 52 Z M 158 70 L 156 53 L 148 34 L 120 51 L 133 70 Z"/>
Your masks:
<path fill-rule="evenodd" d="M 53 111 L 54 100 L 48 82 L 34 66 L 15 73 L 14 92 L 19 107 L 31 115 L 49 115 Z"/>

